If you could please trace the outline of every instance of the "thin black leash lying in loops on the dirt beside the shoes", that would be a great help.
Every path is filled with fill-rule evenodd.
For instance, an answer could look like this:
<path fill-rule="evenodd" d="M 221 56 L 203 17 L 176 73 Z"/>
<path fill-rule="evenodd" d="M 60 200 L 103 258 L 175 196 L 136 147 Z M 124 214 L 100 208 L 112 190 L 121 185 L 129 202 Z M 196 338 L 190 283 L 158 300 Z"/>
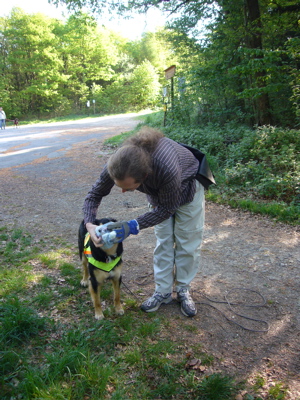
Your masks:
<path fill-rule="evenodd" d="M 124 280 L 122 280 L 122 285 L 126 288 L 126 290 L 127 290 L 133 297 L 135 297 L 136 300 L 138 300 L 138 301 L 140 300 L 140 298 L 139 298 L 135 293 L 133 293 L 133 292 L 130 290 L 130 288 L 124 283 Z M 141 283 L 139 283 L 139 285 L 141 285 Z M 245 291 L 245 292 L 254 293 L 254 294 L 258 295 L 258 297 L 261 299 L 261 302 L 260 302 L 260 303 L 255 303 L 255 304 L 246 304 L 246 303 L 233 303 L 233 302 L 229 301 L 229 300 L 228 300 L 229 295 L 232 294 L 233 292 L 236 292 L 236 291 Z M 214 305 L 212 305 L 212 304 L 210 304 L 210 303 L 207 303 L 207 302 L 195 301 L 195 304 L 201 304 L 201 305 L 209 306 L 209 307 L 211 307 L 211 308 L 217 310 L 217 311 L 218 311 L 227 321 L 229 321 L 230 323 L 235 324 L 235 325 L 239 326 L 240 328 L 242 328 L 242 329 L 244 329 L 244 330 L 246 330 L 246 331 L 250 331 L 250 332 L 268 332 L 268 331 L 269 331 L 270 326 L 269 326 L 269 324 L 268 324 L 267 321 L 264 321 L 263 319 L 252 318 L 252 317 L 249 317 L 249 316 L 244 315 L 244 314 L 239 314 L 239 313 L 237 313 L 237 312 L 233 309 L 234 306 L 243 306 L 243 307 L 249 307 L 249 308 L 264 307 L 264 306 L 266 305 L 266 299 L 265 299 L 264 296 L 263 296 L 261 293 L 259 293 L 258 291 L 252 290 L 252 289 L 246 289 L 246 288 L 233 288 L 233 289 L 231 289 L 231 290 L 227 293 L 227 295 L 224 295 L 224 300 L 215 300 L 215 299 L 211 299 L 211 298 L 209 298 L 208 296 L 206 296 L 205 294 L 202 294 L 202 296 L 205 297 L 205 298 L 206 298 L 208 301 L 210 301 L 211 303 L 227 304 L 228 307 L 229 307 L 229 309 L 230 309 L 230 311 L 231 311 L 234 315 L 236 315 L 236 316 L 238 316 L 238 317 L 241 317 L 241 318 L 245 318 L 245 319 L 250 320 L 250 321 L 259 322 L 259 323 L 265 325 L 266 328 L 265 328 L 265 329 L 252 329 L 252 328 L 247 328 L 246 326 L 244 326 L 244 325 L 242 325 L 242 324 L 239 324 L 237 321 L 234 321 L 233 319 L 227 317 L 227 315 L 226 315 L 223 311 L 219 310 L 216 306 L 214 306 Z"/>

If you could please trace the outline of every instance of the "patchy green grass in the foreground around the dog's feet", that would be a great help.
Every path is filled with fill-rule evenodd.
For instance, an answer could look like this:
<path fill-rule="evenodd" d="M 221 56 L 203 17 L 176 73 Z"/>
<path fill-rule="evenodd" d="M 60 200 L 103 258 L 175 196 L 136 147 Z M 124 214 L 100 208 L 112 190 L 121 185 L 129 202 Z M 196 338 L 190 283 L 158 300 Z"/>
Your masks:
<path fill-rule="evenodd" d="M 190 355 L 178 346 L 169 319 L 142 313 L 130 298 L 123 301 L 125 315 L 116 317 L 108 285 L 106 319 L 96 321 L 70 249 L 43 253 L 31 247 L 25 232 L 0 232 L 0 279 L 6 282 L 0 303 L 3 400 L 234 399 L 241 383 L 219 372 L 187 369 Z M 17 244 L 18 265 L 7 251 L 11 243 Z M 197 334 L 192 324 L 176 323 L 179 332 Z M 201 343 L 190 347 L 203 366 L 214 367 Z M 270 396 L 284 399 L 285 389 L 278 383 Z"/>

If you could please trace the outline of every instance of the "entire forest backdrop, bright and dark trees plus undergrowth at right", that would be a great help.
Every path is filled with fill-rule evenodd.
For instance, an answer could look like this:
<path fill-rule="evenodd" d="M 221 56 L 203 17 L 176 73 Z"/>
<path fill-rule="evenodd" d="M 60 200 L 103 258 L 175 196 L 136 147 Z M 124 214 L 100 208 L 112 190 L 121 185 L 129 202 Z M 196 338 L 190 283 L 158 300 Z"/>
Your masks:
<path fill-rule="evenodd" d="M 165 107 L 147 123 L 207 153 L 218 183 L 211 199 L 299 222 L 298 2 L 53 3 L 73 14 L 61 21 L 15 8 L 0 18 L 8 119 Z M 95 18 L 107 8 L 126 16 L 154 6 L 174 18 L 138 40 Z M 166 79 L 172 65 L 175 77 Z"/>

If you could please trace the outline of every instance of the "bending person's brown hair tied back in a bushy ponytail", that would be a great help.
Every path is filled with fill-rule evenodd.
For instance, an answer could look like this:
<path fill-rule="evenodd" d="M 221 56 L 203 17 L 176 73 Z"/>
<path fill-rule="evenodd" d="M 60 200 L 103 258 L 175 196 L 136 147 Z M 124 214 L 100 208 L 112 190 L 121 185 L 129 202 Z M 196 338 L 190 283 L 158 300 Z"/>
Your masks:
<path fill-rule="evenodd" d="M 110 177 L 118 181 L 131 177 L 137 183 L 143 182 L 152 171 L 151 155 L 163 136 L 159 130 L 144 126 L 109 158 Z"/>

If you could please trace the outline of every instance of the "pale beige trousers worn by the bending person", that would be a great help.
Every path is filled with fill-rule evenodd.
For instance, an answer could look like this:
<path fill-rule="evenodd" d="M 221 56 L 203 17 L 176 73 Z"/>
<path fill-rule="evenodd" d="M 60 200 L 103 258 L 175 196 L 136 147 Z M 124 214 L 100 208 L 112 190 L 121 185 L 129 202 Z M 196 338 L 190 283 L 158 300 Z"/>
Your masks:
<path fill-rule="evenodd" d="M 171 293 L 190 287 L 200 266 L 200 247 L 205 216 L 204 187 L 196 181 L 191 203 L 181 206 L 169 219 L 154 227 L 155 290 Z"/>

